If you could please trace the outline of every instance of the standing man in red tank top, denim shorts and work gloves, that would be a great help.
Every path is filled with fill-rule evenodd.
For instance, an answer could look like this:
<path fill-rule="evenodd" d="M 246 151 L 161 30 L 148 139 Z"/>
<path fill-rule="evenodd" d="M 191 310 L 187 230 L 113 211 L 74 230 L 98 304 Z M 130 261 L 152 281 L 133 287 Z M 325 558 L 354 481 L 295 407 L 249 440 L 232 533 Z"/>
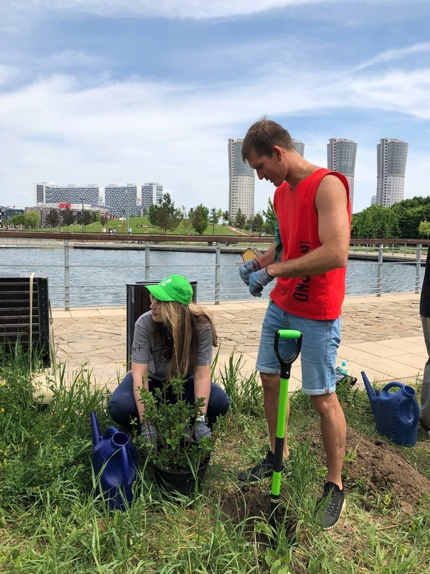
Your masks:
<path fill-rule="evenodd" d="M 240 276 L 255 297 L 261 297 L 275 277 L 276 285 L 263 321 L 256 367 L 262 378 L 271 450 L 254 467 L 240 472 L 239 479 L 255 482 L 273 472 L 280 384 L 274 334 L 296 329 L 303 334 L 302 391 L 320 416 L 327 457 L 328 474 L 316 519 L 323 528 L 333 528 L 345 506 L 341 472 L 346 423 L 335 393 L 335 361 L 350 240 L 348 181 L 304 159 L 289 132 L 268 119 L 249 128 L 242 158 L 259 179 L 276 186 L 273 203 L 279 235 L 264 255 L 240 267 Z M 291 356 L 289 346 L 295 341 L 284 340 L 283 345 L 283 356 Z M 284 456 L 288 454 L 285 442 Z"/>

